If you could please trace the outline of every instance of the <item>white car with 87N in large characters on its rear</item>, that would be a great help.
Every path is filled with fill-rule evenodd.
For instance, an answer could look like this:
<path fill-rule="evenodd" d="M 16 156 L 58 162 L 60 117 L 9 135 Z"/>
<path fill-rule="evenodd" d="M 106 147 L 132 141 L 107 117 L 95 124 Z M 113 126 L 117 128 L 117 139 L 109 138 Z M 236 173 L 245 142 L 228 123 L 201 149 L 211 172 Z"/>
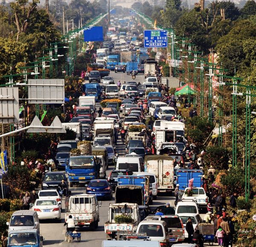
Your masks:
<path fill-rule="evenodd" d="M 194 201 L 194 202 L 197 202 L 198 207 L 206 207 L 207 203 L 208 203 L 208 196 L 206 195 L 206 193 L 204 191 L 204 188 L 202 188 L 202 187 L 193 187 L 192 196 L 187 196 L 185 193 L 189 189 L 190 189 L 189 187 L 185 188 L 184 193 L 181 197 L 182 202 Z"/>

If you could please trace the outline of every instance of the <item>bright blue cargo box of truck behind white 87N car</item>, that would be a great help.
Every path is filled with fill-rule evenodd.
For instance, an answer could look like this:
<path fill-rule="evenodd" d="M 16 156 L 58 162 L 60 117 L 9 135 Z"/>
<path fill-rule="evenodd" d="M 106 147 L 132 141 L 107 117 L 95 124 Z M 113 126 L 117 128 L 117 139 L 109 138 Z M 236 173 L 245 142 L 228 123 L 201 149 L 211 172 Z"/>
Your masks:
<path fill-rule="evenodd" d="M 176 171 L 176 185 L 180 185 L 180 190 L 185 190 L 189 185 L 189 180 L 194 179 L 194 187 L 202 187 L 203 183 L 202 170 L 177 170 Z"/>

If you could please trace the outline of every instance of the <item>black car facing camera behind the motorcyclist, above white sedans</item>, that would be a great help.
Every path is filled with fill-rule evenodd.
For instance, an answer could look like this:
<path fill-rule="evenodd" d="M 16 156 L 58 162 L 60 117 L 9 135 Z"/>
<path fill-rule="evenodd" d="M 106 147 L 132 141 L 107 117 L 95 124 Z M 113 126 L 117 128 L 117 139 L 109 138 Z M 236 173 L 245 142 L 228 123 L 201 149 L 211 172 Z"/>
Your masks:
<path fill-rule="evenodd" d="M 68 191 L 68 181 L 64 171 L 50 171 L 47 172 L 44 176 L 42 190 L 56 189 L 58 190 L 58 185 L 61 183 L 61 180 L 67 184 Z"/>

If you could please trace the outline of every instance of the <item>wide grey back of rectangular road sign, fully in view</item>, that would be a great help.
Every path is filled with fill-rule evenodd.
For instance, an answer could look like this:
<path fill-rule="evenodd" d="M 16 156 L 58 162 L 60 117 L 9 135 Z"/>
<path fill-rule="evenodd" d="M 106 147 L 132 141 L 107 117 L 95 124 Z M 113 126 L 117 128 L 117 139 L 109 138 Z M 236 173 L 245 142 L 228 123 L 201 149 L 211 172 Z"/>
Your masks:
<path fill-rule="evenodd" d="M 64 104 L 64 79 L 29 79 L 30 104 Z"/>

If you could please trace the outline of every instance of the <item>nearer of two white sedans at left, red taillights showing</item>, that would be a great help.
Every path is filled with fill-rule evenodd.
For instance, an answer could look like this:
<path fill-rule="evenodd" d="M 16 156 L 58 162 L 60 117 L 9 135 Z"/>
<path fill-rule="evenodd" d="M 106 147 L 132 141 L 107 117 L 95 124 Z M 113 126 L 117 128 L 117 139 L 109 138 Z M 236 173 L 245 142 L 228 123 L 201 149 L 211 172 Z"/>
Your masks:
<path fill-rule="evenodd" d="M 36 199 L 31 210 L 37 212 L 39 219 L 61 220 L 61 202 L 57 202 L 57 200 Z"/>

